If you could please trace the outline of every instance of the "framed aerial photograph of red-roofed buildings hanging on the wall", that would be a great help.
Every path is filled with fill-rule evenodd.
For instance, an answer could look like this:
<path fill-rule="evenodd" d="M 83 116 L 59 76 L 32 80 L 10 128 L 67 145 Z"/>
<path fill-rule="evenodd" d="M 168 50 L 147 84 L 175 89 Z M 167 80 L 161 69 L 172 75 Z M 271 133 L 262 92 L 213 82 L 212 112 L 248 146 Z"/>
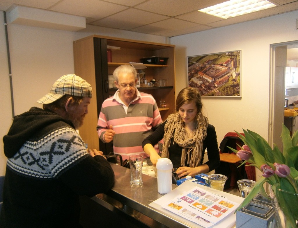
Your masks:
<path fill-rule="evenodd" d="M 188 87 L 201 96 L 241 98 L 241 50 L 187 57 Z"/>

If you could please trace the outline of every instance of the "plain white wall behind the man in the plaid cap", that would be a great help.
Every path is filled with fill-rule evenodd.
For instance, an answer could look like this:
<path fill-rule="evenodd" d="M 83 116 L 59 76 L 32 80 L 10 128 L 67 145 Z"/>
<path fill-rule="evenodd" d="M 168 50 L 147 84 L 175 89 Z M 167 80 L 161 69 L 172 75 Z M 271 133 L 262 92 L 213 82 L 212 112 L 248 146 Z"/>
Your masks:
<path fill-rule="evenodd" d="M 0 176 L 5 174 L 6 157 L 3 151 L 3 136 L 12 123 L 10 82 L 7 62 L 3 11 L 0 11 Z M 99 31 L 94 31 L 98 28 Z M 60 76 L 74 73 L 74 40 L 92 35 L 122 37 L 156 43 L 168 42 L 167 37 L 88 26 L 81 32 L 66 32 L 31 26 L 8 24 L 10 58 L 13 79 L 15 115 L 39 106 L 35 101 L 49 92 Z M 96 126 L 93 126 L 96 132 Z M 92 130 L 92 126 L 91 126 Z"/>

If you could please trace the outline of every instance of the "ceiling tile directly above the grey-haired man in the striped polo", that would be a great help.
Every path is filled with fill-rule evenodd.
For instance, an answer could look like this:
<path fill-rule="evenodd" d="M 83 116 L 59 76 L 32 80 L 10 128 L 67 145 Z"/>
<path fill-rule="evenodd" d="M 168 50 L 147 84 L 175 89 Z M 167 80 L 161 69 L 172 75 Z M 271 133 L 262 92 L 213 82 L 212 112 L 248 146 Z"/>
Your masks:
<path fill-rule="evenodd" d="M 133 29 L 146 24 L 168 19 L 169 17 L 137 9 L 128 9 L 95 21 L 94 25 L 117 29 Z"/>

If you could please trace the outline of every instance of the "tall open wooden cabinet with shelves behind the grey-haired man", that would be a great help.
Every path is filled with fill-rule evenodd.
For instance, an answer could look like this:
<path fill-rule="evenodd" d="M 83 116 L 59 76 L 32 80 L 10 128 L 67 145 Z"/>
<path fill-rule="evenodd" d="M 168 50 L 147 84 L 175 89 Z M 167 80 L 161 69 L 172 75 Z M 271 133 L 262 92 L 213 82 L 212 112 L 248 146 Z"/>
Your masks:
<path fill-rule="evenodd" d="M 119 47 L 112 49 L 112 62 L 108 62 L 107 45 Z M 159 100 L 167 102 L 167 107 L 160 109 L 162 119 L 175 112 L 175 45 L 142 42 L 115 37 L 92 35 L 73 42 L 75 74 L 88 81 L 93 89 L 89 112 L 79 129 L 83 140 L 88 142 L 90 149 L 100 149 L 108 153 L 112 151 L 111 144 L 100 141 L 96 132 L 97 119 L 103 100 L 114 95 L 117 89 L 110 89 L 108 75 L 114 70 L 129 62 L 140 62 L 141 58 L 151 56 L 168 57 L 167 65 L 147 65 L 145 77 L 151 79 L 167 79 L 165 87 L 138 88 L 139 91 L 153 95 L 157 105 Z"/>

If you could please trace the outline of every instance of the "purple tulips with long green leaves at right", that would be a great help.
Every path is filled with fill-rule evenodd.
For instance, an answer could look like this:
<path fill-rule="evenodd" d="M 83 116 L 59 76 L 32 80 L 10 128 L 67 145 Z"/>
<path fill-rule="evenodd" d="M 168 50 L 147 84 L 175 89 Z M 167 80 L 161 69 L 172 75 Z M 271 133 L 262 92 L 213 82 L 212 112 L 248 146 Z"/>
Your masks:
<path fill-rule="evenodd" d="M 243 130 L 244 135 L 238 133 L 245 145 L 241 150 L 234 151 L 239 158 L 262 171 L 262 177 L 254 185 L 248 196 L 237 208 L 240 210 L 248 204 L 259 192 L 267 196 L 264 183 L 269 183 L 279 206 L 289 224 L 288 227 L 297 228 L 298 220 L 298 131 L 291 137 L 288 128 L 283 125 L 281 134 L 283 153 L 274 145 L 273 149 L 260 135 L 250 130 Z M 241 165 L 243 165 L 243 162 Z"/>

